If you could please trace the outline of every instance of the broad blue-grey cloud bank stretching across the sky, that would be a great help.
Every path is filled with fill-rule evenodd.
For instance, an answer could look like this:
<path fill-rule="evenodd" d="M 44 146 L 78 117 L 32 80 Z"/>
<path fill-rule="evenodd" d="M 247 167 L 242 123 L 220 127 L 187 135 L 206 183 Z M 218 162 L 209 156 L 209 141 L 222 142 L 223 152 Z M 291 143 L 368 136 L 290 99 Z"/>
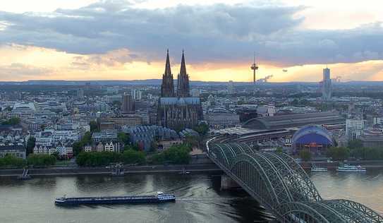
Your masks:
<path fill-rule="evenodd" d="M 185 48 L 190 63 L 257 58 L 296 65 L 355 62 L 383 58 L 381 23 L 353 30 L 302 30 L 302 7 L 176 6 L 134 8 L 103 1 L 49 15 L 0 12 L 8 24 L 0 44 L 30 44 L 78 54 L 126 48 L 136 59 L 164 59 L 169 47 L 178 58 Z M 11 24 L 11 25 L 9 25 Z"/>

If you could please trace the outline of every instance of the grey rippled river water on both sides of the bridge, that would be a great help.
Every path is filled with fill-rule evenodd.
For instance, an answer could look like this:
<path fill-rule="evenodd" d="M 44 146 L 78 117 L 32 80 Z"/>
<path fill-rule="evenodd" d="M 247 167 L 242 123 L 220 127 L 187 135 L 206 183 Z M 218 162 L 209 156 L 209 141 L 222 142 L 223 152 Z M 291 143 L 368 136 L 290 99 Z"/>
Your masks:
<path fill-rule="evenodd" d="M 383 212 L 383 171 L 311 174 L 323 198 L 346 198 Z M 220 191 L 217 176 L 147 174 L 0 178 L 0 222 L 264 222 L 271 219 L 243 191 Z M 175 193 L 176 203 L 56 207 L 54 198 Z"/>

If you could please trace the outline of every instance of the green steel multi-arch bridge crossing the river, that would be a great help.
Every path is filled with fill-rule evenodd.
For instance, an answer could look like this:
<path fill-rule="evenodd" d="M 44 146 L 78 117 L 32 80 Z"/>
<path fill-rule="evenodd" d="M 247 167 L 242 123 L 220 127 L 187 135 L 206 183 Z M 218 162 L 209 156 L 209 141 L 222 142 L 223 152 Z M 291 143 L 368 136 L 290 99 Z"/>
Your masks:
<path fill-rule="evenodd" d="M 383 222 L 351 200 L 324 200 L 300 165 L 284 153 L 246 144 L 207 142 L 209 158 L 280 222 Z"/>

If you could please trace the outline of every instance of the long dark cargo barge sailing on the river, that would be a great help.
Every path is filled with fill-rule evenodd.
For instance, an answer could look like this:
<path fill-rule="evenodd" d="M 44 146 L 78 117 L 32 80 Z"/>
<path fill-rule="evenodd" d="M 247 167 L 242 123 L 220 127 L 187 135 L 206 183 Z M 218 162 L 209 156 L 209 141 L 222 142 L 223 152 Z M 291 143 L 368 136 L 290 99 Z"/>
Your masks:
<path fill-rule="evenodd" d="M 134 195 L 113 197 L 56 198 L 56 205 L 113 205 L 130 203 L 165 203 L 176 201 L 174 194 L 157 192 L 156 195 Z"/>

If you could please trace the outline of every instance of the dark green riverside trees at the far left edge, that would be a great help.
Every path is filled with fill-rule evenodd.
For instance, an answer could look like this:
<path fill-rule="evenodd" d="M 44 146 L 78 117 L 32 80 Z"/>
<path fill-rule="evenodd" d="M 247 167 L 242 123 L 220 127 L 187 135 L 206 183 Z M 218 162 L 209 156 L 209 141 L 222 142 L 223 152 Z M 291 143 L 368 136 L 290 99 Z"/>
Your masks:
<path fill-rule="evenodd" d="M 48 167 L 54 164 L 56 164 L 56 157 L 53 155 L 31 154 L 27 159 L 6 155 L 4 158 L 0 158 L 0 167 Z"/>

